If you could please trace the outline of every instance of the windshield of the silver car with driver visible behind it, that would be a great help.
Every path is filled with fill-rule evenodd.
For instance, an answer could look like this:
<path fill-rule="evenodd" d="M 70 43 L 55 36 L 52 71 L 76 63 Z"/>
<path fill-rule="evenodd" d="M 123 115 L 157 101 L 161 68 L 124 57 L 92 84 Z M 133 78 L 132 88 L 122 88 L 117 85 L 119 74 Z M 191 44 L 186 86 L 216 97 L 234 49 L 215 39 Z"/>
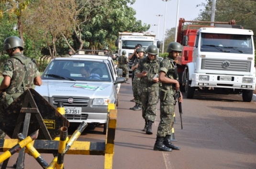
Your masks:
<path fill-rule="evenodd" d="M 111 81 L 104 62 L 53 60 L 46 67 L 42 79 L 69 81 Z"/>

